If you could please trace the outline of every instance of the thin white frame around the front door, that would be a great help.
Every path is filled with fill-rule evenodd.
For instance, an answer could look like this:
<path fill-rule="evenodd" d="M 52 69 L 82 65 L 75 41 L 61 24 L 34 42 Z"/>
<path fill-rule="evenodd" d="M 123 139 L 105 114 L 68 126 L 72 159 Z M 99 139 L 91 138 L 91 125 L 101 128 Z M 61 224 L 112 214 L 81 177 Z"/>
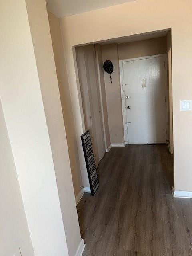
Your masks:
<path fill-rule="evenodd" d="M 124 75 L 123 75 L 123 62 L 128 61 L 134 61 L 134 60 L 144 60 L 144 59 L 152 59 L 157 57 L 164 57 L 165 62 L 165 85 L 167 87 L 167 54 L 157 54 L 157 55 L 151 55 L 151 56 L 144 56 L 144 57 L 138 57 L 138 58 L 131 58 L 131 59 L 125 59 L 125 60 L 119 60 L 119 68 L 120 68 L 120 84 L 121 84 L 121 100 L 122 100 L 122 115 L 123 115 L 123 130 L 124 130 L 124 140 L 125 144 L 129 144 L 128 140 L 128 130 L 127 130 L 127 118 L 126 118 L 126 105 L 125 105 L 125 93 L 124 93 Z M 166 95 L 166 104 L 168 104 L 168 97 Z M 168 108 L 167 108 L 168 109 Z M 166 119 L 167 119 L 167 128 L 168 128 L 168 111 L 166 111 Z M 168 131 L 167 131 L 168 136 Z M 168 140 L 168 137 L 167 137 Z"/>

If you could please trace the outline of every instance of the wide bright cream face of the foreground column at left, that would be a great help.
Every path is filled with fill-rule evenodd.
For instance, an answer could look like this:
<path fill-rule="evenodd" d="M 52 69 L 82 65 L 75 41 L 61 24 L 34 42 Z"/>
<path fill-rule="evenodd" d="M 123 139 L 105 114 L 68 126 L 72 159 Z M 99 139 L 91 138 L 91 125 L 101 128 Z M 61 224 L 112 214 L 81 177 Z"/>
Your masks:
<path fill-rule="evenodd" d="M 26 2 L 1 8 L 0 98 L 34 254 L 60 256 L 67 246 Z"/>

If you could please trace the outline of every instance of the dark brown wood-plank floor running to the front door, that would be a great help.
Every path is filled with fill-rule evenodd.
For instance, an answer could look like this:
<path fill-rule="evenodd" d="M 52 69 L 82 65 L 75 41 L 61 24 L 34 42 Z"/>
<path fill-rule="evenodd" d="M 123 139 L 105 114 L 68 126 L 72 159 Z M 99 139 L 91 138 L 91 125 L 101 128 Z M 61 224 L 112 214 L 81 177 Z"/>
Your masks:
<path fill-rule="evenodd" d="M 192 200 L 173 198 L 167 145 L 112 148 L 79 202 L 83 256 L 192 256 Z"/>

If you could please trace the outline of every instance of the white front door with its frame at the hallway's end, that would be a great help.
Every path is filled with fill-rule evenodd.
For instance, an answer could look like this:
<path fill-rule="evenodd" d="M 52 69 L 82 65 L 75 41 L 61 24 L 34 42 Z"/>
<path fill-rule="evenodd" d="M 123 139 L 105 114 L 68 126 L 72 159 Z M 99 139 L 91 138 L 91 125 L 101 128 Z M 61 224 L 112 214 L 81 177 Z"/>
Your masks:
<path fill-rule="evenodd" d="M 129 144 L 168 140 L 166 54 L 120 61 L 124 134 Z"/>

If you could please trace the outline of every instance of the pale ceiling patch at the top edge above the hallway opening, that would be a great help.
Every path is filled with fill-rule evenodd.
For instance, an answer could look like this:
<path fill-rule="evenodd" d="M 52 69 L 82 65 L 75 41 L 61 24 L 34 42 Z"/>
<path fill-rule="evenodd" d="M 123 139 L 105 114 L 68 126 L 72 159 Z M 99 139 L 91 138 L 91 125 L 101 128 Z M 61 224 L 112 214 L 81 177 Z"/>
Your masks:
<path fill-rule="evenodd" d="M 46 4 L 48 11 L 61 18 L 132 1 L 136 0 L 46 0 Z"/>

